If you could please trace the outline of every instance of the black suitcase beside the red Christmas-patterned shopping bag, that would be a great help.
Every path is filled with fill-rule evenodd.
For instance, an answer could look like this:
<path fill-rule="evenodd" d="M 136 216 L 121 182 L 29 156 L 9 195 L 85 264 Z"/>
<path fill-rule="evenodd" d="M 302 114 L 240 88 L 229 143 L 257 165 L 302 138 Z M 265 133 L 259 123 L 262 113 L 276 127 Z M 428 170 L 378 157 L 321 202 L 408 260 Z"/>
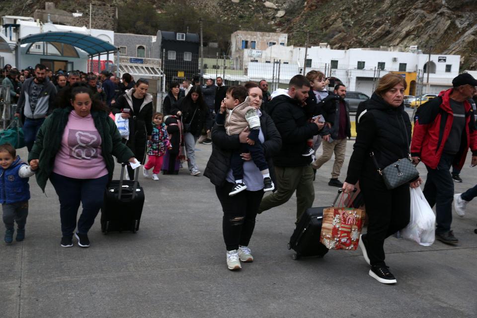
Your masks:
<path fill-rule="evenodd" d="M 307 209 L 298 221 L 288 243 L 288 249 L 293 248 L 296 252 L 292 255 L 293 259 L 299 259 L 301 256 L 323 257 L 328 252 L 326 246 L 319 242 L 324 208 Z"/>

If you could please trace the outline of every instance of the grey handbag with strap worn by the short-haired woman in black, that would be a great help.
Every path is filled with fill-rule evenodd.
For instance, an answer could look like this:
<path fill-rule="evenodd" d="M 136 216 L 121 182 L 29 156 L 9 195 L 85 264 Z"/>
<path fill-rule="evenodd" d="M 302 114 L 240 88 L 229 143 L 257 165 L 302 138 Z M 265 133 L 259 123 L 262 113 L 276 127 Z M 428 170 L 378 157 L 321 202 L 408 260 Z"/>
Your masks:
<path fill-rule="evenodd" d="M 371 152 L 370 155 L 371 158 L 373 158 L 376 169 L 378 169 L 379 174 L 383 177 L 383 181 L 389 190 L 396 189 L 398 186 L 412 181 L 419 176 L 419 171 L 417 171 L 412 163 L 410 155 L 409 158 L 399 159 L 383 169 L 379 167 L 374 153 Z"/>

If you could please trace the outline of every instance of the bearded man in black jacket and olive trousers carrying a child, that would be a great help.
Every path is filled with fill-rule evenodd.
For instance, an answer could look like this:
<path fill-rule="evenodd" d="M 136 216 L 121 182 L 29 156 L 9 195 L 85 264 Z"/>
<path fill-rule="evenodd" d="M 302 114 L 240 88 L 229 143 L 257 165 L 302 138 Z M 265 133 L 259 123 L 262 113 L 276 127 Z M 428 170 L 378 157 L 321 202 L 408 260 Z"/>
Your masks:
<path fill-rule="evenodd" d="M 306 99 L 310 91 L 310 81 L 303 75 L 296 75 L 288 84 L 288 90 L 273 92 L 270 102 L 270 116 L 282 137 L 282 149 L 273 157 L 277 179 L 277 191 L 265 197 L 258 213 L 287 202 L 297 191 L 297 221 L 315 200 L 311 156 L 304 157 L 307 140 L 318 135 L 324 123 L 308 122 Z"/>

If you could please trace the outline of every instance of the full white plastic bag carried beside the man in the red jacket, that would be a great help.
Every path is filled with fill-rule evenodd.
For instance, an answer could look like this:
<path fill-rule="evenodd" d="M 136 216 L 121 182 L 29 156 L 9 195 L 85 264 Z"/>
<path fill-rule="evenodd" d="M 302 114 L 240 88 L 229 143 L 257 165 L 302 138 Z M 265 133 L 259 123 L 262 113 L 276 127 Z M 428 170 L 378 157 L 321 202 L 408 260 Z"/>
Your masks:
<path fill-rule="evenodd" d="M 420 187 L 411 188 L 411 217 L 407 227 L 400 231 L 404 239 L 423 246 L 434 243 L 436 216 Z"/>

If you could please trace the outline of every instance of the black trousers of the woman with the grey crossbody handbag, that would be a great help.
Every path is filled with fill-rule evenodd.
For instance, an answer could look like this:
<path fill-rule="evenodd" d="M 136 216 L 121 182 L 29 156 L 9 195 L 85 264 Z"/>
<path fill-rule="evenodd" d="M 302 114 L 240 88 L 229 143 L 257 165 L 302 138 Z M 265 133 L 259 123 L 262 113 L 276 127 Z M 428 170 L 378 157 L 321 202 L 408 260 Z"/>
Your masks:
<path fill-rule="evenodd" d="M 371 265 L 386 265 L 384 240 L 409 223 L 409 184 L 388 190 L 384 183 L 359 180 L 368 215 L 368 232 L 364 236 Z"/>

